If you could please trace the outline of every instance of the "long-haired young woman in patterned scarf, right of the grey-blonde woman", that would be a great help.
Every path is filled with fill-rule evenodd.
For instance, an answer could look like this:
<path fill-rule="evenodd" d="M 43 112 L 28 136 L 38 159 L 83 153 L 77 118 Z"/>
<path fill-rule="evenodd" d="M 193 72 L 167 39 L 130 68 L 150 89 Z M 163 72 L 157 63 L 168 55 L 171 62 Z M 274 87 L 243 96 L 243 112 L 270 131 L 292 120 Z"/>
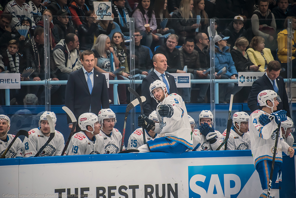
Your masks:
<path fill-rule="evenodd" d="M 126 60 L 126 46 L 124 44 L 123 34 L 120 32 L 115 32 L 111 39 L 111 45 L 114 48 L 115 55 L 119 60 L 119 67 L 125 67 L 124 71 L 121 71 L 119 74 L 128 78 L 130 75 L 128 61 Z"/>

